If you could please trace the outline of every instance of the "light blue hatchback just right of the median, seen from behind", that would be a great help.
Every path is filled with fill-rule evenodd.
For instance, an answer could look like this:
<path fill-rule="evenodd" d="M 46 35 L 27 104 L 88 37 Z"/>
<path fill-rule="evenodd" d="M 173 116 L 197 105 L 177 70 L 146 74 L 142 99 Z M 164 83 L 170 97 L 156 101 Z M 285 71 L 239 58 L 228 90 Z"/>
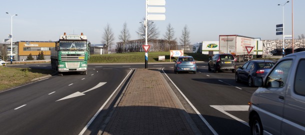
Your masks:
<path fill-rule="evenodd" d="M 192 56 L 179 56 L 177 60 L 174 60 L 174 72 L 178 73 L 180 71 L 192 71 L 196 73 L 197 66 L 194 58 Z"/>

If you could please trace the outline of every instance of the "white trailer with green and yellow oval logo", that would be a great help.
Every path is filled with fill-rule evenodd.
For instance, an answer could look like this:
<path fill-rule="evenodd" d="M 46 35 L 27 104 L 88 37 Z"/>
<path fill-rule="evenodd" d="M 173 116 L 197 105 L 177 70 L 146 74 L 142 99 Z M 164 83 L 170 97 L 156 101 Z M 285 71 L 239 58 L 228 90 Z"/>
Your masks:
<path fill-rule="evenodd" d="M 202 54 L 213 56 L 219 53 L 219 41 L 202 41 Z"/>

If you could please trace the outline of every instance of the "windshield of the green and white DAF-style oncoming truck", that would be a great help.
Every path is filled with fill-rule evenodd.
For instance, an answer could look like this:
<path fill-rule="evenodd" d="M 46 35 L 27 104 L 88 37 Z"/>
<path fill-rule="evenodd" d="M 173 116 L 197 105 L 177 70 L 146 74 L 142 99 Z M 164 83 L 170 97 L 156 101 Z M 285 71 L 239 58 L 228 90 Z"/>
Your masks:
<path fill-rule="evenodd" d="M 85 41 L 65 41 L 59 43 L 59 49 L 86 49 Z"/>

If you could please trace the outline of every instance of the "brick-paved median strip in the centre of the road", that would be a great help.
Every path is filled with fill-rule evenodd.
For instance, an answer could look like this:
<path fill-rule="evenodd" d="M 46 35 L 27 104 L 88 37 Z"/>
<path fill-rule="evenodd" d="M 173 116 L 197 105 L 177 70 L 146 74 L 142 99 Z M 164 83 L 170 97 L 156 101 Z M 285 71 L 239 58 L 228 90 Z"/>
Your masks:
<path fill-rule="evenodd" d="M 158 69 L 136 69 L 102 134 L 198 134 Z"/>

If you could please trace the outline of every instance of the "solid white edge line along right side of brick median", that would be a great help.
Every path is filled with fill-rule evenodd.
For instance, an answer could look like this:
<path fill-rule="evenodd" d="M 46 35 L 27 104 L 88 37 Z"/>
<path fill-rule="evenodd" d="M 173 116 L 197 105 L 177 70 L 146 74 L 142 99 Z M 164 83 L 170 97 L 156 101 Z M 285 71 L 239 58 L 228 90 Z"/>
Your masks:
<path fill-rule="evenodd" d="M 164 72 L 163 68 L 162 71 Z M 201 118 L 201 120 L 206 124 L 206 126 L 211 130 L 211 132 L 215 135 L 217 135 L 218 133 L 214 130 L 214 128 L 206 121 L 206 119 L 200 114 L 200 112 L 195 108 L 194 105 L 192 105 L 192 103 L 187 99 L 187 97 L 182 93 L 182 91 L 176 86 L 175 83 L 173 83 L 173 81 L 167 76 L 167 74 L 164 72 L 164 74 L 166 75 L 166 77 L 170 80 L 170 82 L 178 89 L 178 91 L 181 93 L 181 95 L 184 97 L 184 99 L 188 102 L 188 104 L 192 107 L 193 110 L 195 110 L 195 112 L 197 113 L 197 115 Z"/>

